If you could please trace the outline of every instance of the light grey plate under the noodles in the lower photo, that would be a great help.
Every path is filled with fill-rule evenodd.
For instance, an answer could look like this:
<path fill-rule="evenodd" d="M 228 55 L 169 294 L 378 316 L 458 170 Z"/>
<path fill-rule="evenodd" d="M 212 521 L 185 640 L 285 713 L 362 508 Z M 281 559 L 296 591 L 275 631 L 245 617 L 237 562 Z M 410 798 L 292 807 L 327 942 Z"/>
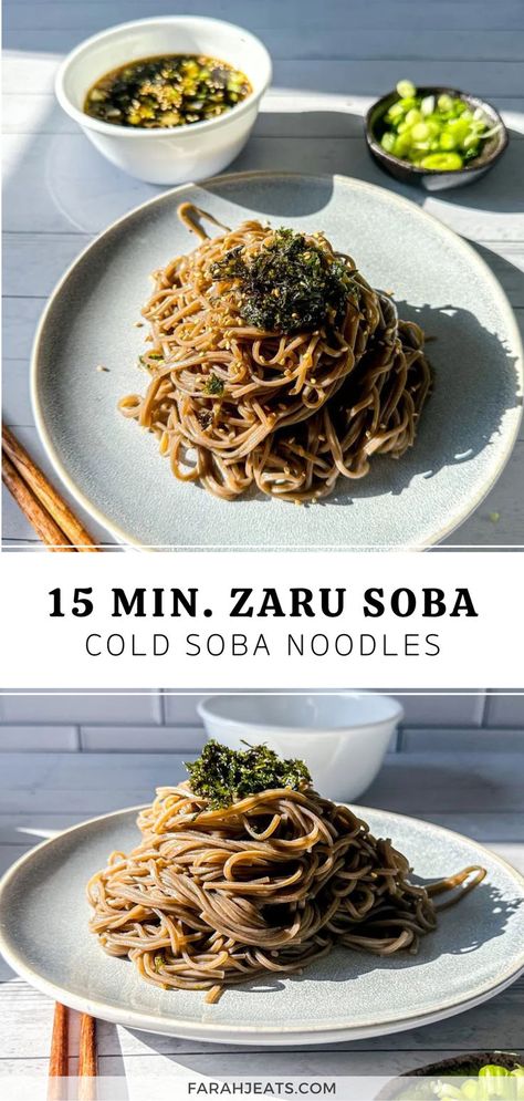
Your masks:
<path fill-rule="evenodd" d="M 136 809 L 74 827 L 24 856 L 0 886 L 0 948 L 28 981 L 73 1008 L 146 1031 L 224 1043 L 277 1046 L 360 1039 L 439 1020 L 492 997 L 524 969 L 524 880 L 460 834 L 361 808 L 422 879 L 474 863 L 488 879 L 442 914 L 418 956 L 380 959 L 344 948 L 300 977 L 228 990 L 146 984 L 126 959 L 104 955 L 87 929 L 85 884 L 115 849 L 138 840 Z"/>

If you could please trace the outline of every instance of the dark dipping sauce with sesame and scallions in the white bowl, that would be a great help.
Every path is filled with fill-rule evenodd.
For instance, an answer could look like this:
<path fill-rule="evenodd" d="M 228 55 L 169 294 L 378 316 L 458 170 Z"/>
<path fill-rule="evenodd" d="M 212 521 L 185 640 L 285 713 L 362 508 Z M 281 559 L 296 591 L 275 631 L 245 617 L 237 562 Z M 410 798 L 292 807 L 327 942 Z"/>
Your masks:
<path fill-rule="evenodd" d="M 244 73 L 224 61 L 175 53 L 114 69 L 90 89 L 84 111 L 115 126 L 186 126 L 230 111 L 251 91 Z"/>

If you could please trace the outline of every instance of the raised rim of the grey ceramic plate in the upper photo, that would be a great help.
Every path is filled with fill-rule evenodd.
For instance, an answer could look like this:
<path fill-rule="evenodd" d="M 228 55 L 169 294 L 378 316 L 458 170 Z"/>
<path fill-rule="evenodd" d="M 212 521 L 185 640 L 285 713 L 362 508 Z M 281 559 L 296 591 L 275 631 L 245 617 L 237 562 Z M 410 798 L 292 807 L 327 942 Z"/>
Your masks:
<path fill-rule="evenodd" d="M 120 218 L 116 219 L 116 221 L 112 222 L 112 225 L 108 226 L 107 229 L 103 230 L 103 232 L 99 233 L 95 238 L 95 240 L 92 241 L 80 253 L 80 256 L 76 258 L 76 260 L 74 260 L 74 262 L 66 269 L 66 271 L 62 276 L 62 279 L 57 282 L 57 284 L 54 288 L 52 294 L 50 295 L 50 299 L 49 299 L 49 301 L 46 303 L 44 312 L 43 312 L 43 314 L 42 314 L 42 316 L 40 319 L 39 325 L 36 328 L 36 333 L 35 333 L 35 336 L 34 336 L 33 347 L 32 347 L 32 352 L 31 352 L 31 366 L 30 366 L 31 404 L 32 404 L 32 409 L 33 409 L 33 415 L 34 415 L 36 428 L 38 428 L 40 438 L 41 438 L 41 440 L 43 443 L 43 446 L 45 448 L 45 451 L 46 451 L 46 454 L 48 454 L 48 456 L 49 456 L 49 458 L 50 458 L 50 460 L 51 460 L 54 469 L 56 470 L 56 474 L 62 479 L 63 484 L 66 486 L 66 488 L 69 489 L 69 491 L 72 494 L 72 496 L 75 498 L 75 500 L 77 501 L 77 503 L 83 509 L 85 509 L 85 511 L 88 512 L 88 515 L 91 517 L 93 517 L 94 520 L 96 520 L 104 528 L 106 528 L 106 530 L 119 543 L 122 543 L 122 544 L 129 546 L 132 548 L 137 548 L 137 549 L 140 549 L 140 550 L 154 550 L 154 549 L 161 550 L 161 549 L 168 549 L 168 547 L 164 547 L 164 548 L 163 547 L 145 547 L 139 540 L 137 540 L 133 536 L 132 532 L 125 531 L 123 528 L 120 528 L 117 523 L 115 523 L 111 519 L 111 517 L 108 517 L 102 509 L 99 509 L 96 505 L 94 505 L 90 500 L 88 497 L 86 497 L 84 495 L 83 490 L 78 488 L 78 486 L 76 485 L 76 482 L 74 481 L 74 479 L 70 476 L 70 474 L 67 472 L 66 468 L 63 466 L 63 464 L 62 464 L 62 461 L 61 461 L 61 459 L 60 459 L 60 457 L 57 455 L 57 451 L 56 451 L 56 449 L 54 447 L 54 444 L 52 442 L 51 434 L 48 430 L 48 427 L 46 427 L 46 424 L 45 424 L 44 414 L 43 414 L 43 409 L 42 409 L 41 402 L 40 402 L 40 389 L 39 389 L 39 356 L 40 356 L 40 344 L 41 344 L 41 340 L 42 340 L 42 336 L 43 336 L 43 333 L 44 333 L 45 325 L 48 323 L 48 318 L 49 318 L 49 315 L 51 313 L 51 310 L 54 307 L 55 300 L 62 293 L 62 290 L 65 288 L 67 281 L 69 281 L 70 277 L 73 274 L 73 272 L 76 271 L 76 268 L 83 263 L 85 257 L 88 253 L 91 253 L 92 250 L 101 248 L 101 246 L 103 245 L 103 242 L 105 242 L 115 231 L 119 230 L 120 227 L 124 226 L 126 222 L 129 222 L 129 226 L 133 229 L 133 220 L 137 216 L 139 216 L 143 210 L 147 209 L 148 207 L 155 206 L 155 205 L 160 205 L 160 204 L 165 204 L 165 202 L 166 204 L 171 202 L 172 201 L 172 197 L 176 196 L 176 195 L 178 195 L 178 194 L 181 194 L 181 193 L 185 193 L 186 195 L 190 196 L 192 188 L 207 187 L 207 186 L 216 186 L 216 185 L 220 185 L 222 183 L 227 183 L 227 181 L 231 181 L 231 180 L 248 181 L 248 180 L 251 180 L 251 179 L 274 179 L 274 180 L 276 180 L 276 179 L 286 179 L 286 180 L 289 180 L 289 179 L 296 179 L 296 180 L 302 180 L 302 181 L 306 181 L 307 179 L 319 179 L 319 180 L 332 179 L 332 180 L 336 180 L 337 183 L 342 184 L 343 186 L 345 184 L 349 183 L 350 186 L 352 186 L 352 188 L 357 188 L 357 189 L 360 188 L 364 191 L 368 191 L 368 193 L 370 191 L 373 194 L 376 194 L 376 193 L 379 193 L 379 194 L 382 194 L 382 195 L 386 194 L 388 196 L 388 200 L 394 206 L 395 205 L 396 206 L 400 206 L 402 209 L 409 208 L 410 210 L 412 210 L 415 208 L 422 218 L 429 219 L 429 221 L 432 225 L 432 227 L 434 228 L 434 230 L 438 231 L 438 232 L 440 232 L 440 235 L 444 238 L 444 240 L 449 241 L 451 239 L 453 241 L 454 247 L 461 249 L 465 253 L 465 256 L 468 257 L 468 260 L 469 260 L 470 264 L 473 266 L 473 267 L 475 267 L 478 269 L 478 271 L 481 273 L 483 280 L 485 282 L 488 282 L 488 283 L 491 284 L 493 295 L 494 295 L 494 298 L 496 298 L 496 300 L 499 302 L 499 305 L 500 305 L 500 309 L 501 309 L 501 312 L 504 315 L 505 324 L 506 324 L 506 331 L 509 332 L 509 334 L 511 336 L 512 344 L 514 344 L 514 347 L 515 347 L 516 355 L 515 355 L 514 368 L 515 368 L 515 372 L 517 373 L 517 376 L 518 376 L 518 389 L 520 389 L 520 393 L 522 394 L 522 389 L 523 389 L 523 385 L 524 385 L 524 363 L 523 363 L 524 351 L 523 351 L 523 344 L 522 344 L 520 330 L 517 328 L 516 320 L 515 320 L 512 307 L 511 307 L 511 304 L 510 304 L 510 302 L 507 300 L 507 297 L 504 293 L 504 291 L 503 291 L 500 282 L 499 282 L 499 280 L 493 274 L 493 272 L 488 267 L 488 264 L 484 262 L 484 260 L 482 260 L 482 258 L 471 247 L 471 245 L 468 245 L 468 242 L 464 241 L 464 239 L 462 237 L 460 237 L 452 229 L 450 229 L 448 226 L 446 226 L 443 222 L 441 222 L 438 218 L 434 218 L 433 215 L 428 214 L 426 210 L 423 210 L 417 204 L 411 202 L 410 199 L 406 199 L 402 196 L 397 195 L 396 191 L 391 191 L 391 190 L 389 190 L 389 188 L 379 187 L 377 184 L 368 184 L 366 180 L 357 179 L 357 178 L 355 178 L 353 176 L 345 176 L 345 175 L 342 175 L 342 174 L 338 174 L 338 173 L 333 173 L 333 174 L 328 174 L 328 173 L 324 173 L 324 174 L 323 173 L 312 174 L 312 173 L 310 173 L 310 174 L 307 174 L 307 173 L 271 172 L 271 170 L 263 170 L 263 172 L 242 172 L 242 173 L 224 173 L 224 174 L 222 174 L 220 176 L 212 176 L 209 179 L 199 180 L 198 184 L 180 184 L 178 187 L 171 188 L 170 190 L 165 191 L 161 195 L 156 195 L 156 196 L 154 196 L 153 199 L 148 199 L 146 202 L 142 202 L 138 207 L 135 207 L 133 210 L 127 211 L 127 214 L 123 215 Z M 449 523 L 443 524 L 438 530 L 436 530 L 436 532 L 433 533 L 433 537 L 430 540 L 426 541 L 425 543 L 421 543 L 417 548 L 411 548 L 411 549 L 423 550 L 427 547 L 431 547 L 431 546 L 433 546 L 436 543 L 441 542 L 443 539 L 446 539 L 447 536 L 449 536 L 452 531 L 454 531 L 457 528 L 459 528 L 464 522 L 464 520 L 467 520 L 468 517 L 471 516 L 471 513 L 479 507 L 479 505 L 482 503 L 482 501 L 485 499 L 485 497 L 488 496 L 488 494 L 491 491 L 491 489 L 493 488 L 493 486 L 495 485 L 495 482 L 499 480 L 499 478 L 500 478 L 500 476 L 501 476 L 501 474 L 502 474 L 502 471 L 503 471 L 503 469 L 504 469 L 504 467 L 505 467 L 505 465 L 506 465 L 506 463 L 507 463 L 507 460 L 510 458 L 510 455 L 511 455 L 511 453 L 513 450 L 514 444 L 515 444 L 517 435 L 518 435 L 518 429 L 520 429 L 522 416 L 523 416 L 523 409 L 522 409 L 522 405 L 521 405 L 520 412 L 517 413 L 517 415 L 514 418 L 513 429 L 510 430 L 510 432 L 506 432 L 505 448 L 504 448 L 504 450 L 502 451 L 502 454 L 499 457 L 499 463 L 497 463 L 496 467 L 494 468 L 493 471 L 490 472 L 490 476 L 486 478 L 485 484 L 479 489 L 478 492 L 475 492 L 474 495 L 472 495 L 468 499 L 468 501 L 464 503 L 462 510 L 459 511 L 459 512 L 457 512 L 457 515 L 450 520 Z M 343 549 L 344 544 L 338 544 L 337 543 L 335 546 L 336 546 L 336 549 L 340 550 L 340 549 Z M 346 546 L 350 547 L 350 544 L 346 544 Z M 377 544 L 375 544 L 375 546 L 377 546 Z M 192 547 L 193 547 L 193 549 L 202 549 L 200 544 L 192 544 Z M 242 547 L 240 549 L 249 550 L 249 549 L 253 549 L 253 548 L 256 548 L 256 547 L 258 547 L 258 544 L 242 544 Z M 174 543 L 174 544 L 171 544 L 171 549 L 189 550 L 190 549 L 190 544 L 177 544 L 177 543 Z M 213 544 L 209 544 L 209 546 L 206 544 L 205 549 L 206 550 L 222 550 L 223 548 L 222 547 L 214 547 Z M 228 550 L 235 550 L 235 549 L 239 549 L 239 548 L 237 548 L 234 544 L 232 544 L 232 546 L 228 546 L 227 549 Z M 279 547 L 275 546 L 274 549 L 277 550 Z M 289 550 L 290 548 L 285 548 L 285 549 Z M 294 549 L 300 550 L 300 549 L 317 549 L 317 548 L 316 547 L 311 547 L 310 544 L 296 544 L 296 547 Z M 331 547 L 329 547 L 329 544 L 325 544 L 321 549 L 322 550 L 329 550 Z M 365 549 L 365 548 L 364 547 L 359 547 L 359 550 L 363 550 L 363 549 Z M 386 546 L 386 548 L 381 546 L 380 549 L 382 549 L 382 550 L 387 549 L 387 546 Z M 396 549 L 400 550 L 402 548 L 396 548 Z M 407 549 L 407 548 L 404 548 L 404 549 Z"/>

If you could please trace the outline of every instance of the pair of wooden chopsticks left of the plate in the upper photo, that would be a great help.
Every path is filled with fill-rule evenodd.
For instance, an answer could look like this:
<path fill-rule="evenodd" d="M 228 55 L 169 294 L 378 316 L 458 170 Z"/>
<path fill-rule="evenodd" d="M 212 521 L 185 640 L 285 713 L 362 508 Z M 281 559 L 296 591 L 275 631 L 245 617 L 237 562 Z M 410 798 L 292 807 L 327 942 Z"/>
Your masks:
<path fill-rule="evenodd" d="M 83 523 L 6 426 L 2 427 L 2 451 L 4 465 L 9 464 L 9 481 L 3 480 L 40 538 L 50 547 L 55 544 L 56 550 L 98 550 Z M 28 497 L 28 490 L 31 497 Z M 50 523 L 43 521 L 42 512 L 48 513 Z"/>

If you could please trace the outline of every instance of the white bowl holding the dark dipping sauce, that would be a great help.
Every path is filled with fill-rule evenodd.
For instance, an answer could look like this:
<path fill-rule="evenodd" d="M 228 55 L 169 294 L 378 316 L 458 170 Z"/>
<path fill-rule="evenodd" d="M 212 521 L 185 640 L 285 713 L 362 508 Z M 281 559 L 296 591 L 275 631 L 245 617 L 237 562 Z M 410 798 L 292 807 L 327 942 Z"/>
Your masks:
<path fill-rule="evenodd" d="M 113 126 L 83 111 L 101 76 L 139 58 L 195 53 L 218 58 L 250 81 L 252 92 L 217 118 L 165 129 Z M 165 15 L 120 23 L 76 46 L 56 74 L 63 110 L 118 168 L 151 184 L 184 184 L 222 172 L 245 145 L 271 81 L 271 59 L 249 31 L 220 19 Z"/>

